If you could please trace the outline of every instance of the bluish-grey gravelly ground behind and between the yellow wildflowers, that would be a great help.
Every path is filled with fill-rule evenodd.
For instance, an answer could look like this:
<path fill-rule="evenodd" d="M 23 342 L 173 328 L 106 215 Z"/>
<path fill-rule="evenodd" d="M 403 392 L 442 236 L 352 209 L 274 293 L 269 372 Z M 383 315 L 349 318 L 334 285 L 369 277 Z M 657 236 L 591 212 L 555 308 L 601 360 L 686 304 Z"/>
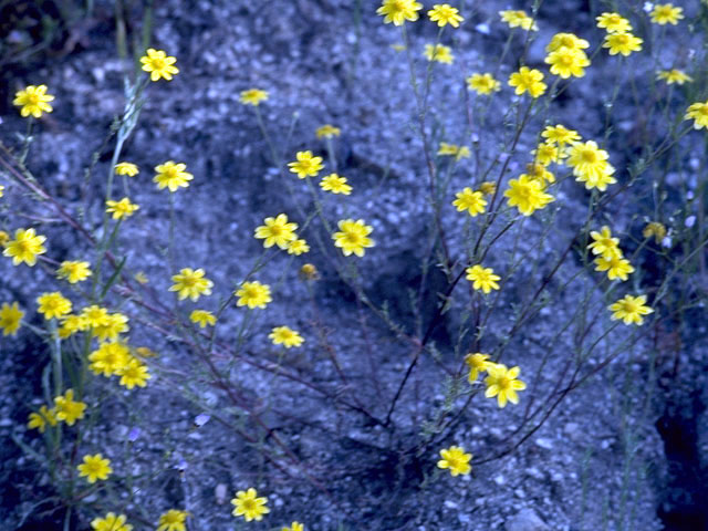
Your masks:
<path fill-rule="evenodd" d="M 336 0 L 275 0 L 248 6 L 227 0 L 189 6 L 176 0 L 158 3 L 154 45 L 178 58 L 180 74 L 170 83 L 148 87 L 138 126 L 122 157 L 143 168 L 129 185 L 131 197 L 140 205 L 139 216 L 125 223 L 119 247 L 127 256 L 131 272 L 139 270 L 150 279 L 147 290 L 153 291 L 146 293 L 166 293 L 171 274 L 164 252 L 169 204 L 166 192 L 155 189 L 148 180 L 152 176 L 148 168 L 174 159 L 185 162 L 195 175 L 189 189 L 175 196 L 174 260 L 177 268 L 207 269 L 218 298 L 228 296 L 262 252 L 252 232 L 263 217 L 284 211 L 303 223 L 298 206 L 312 210 L 309 196 L 295 188 L 302 181 L 294 183 L 293 177 L 294 184 L 282 186 L 252 110 L 238 103 L 240 91 L 258 86 L 270 92 L 269 101 L 260 108 L 285 159 L 292 159 L 299 149 L 324 155 L 324 144 L 315 138 L 315 128 L 324 123 L 342 128 L 335 152 L 339 170 L 347 176 L 354 192 L 346 198 L 329 199 L 323 206 L 324 215 L 330 220 L 363 218 L 374 227 L 377 247 L 356 262 L 358 282 L 372 301 L 377 304 L 387 301 L 394 319 L 413 329 L 415 319 L 409 311 L 408 290 L 419 285 L 419 267 L 430 231 L 423 146 L 413 117 L 415 101 L 404 52 L 392 48 L 400 42 L 398 30 L 382 24 L 375 15 L 378 3 L 369 1 L 361 2 L 357 24 L 352 3 Z M 429 101 L 430 123 L 436 125 L 429 133 L 437 140 L 467 142 L 462 133 L 467 116 L 460 111 L 465 101 L 464 77 L 472 71 L 494 70 L 492 58 L 499 55 L 508 35 L 497 12 L 506 8 L 503 2 L 485 2 L 475 8 L 475 15 L 454 39 L 446 32 L 444 41 L 454 45 L 456 61 L 452 66 L 434 66 Z M 102 179 L 111 159 L 110 149 L 102 148 L 103 139 L 123 105 L 123 65 L 115 59 L 111 13 L 108 6 L 97 2 L 96 23 L 87 31 L 83 48 L 18 81 L 18 85 L 45 82 L 56 95 L 55 112 L 37 129 L 29 167 L 70 211 L 77 214 L 88 205 L 82 219 L 91 227 L 101 220 L 98 198 L 104 194 Z M 593 21 L 585 2 L 549 2 L 540 12 L 539 25 L 539 39 L 528 54 L 531 65 L 542 64 L 543 46 L 559 31 L 576 31 L 593 46 L 601 39 L 598 31 L 589 30 Z M 410 25 L 410 33 L 415 53 L 421 53 L 423 44 L 436 38 L 429 23 Z M 667 39 L 666 53 L 683 53 L 678 46 L 678 51 L 673 49 L 673 42 Z M 512 58 L 522 50 L 522 42 L 512 41 L 500 77 L 513 70 Z M 604 104 L 610 97 L 606 73 L 623 75 L 615 67 L 616 62 L 601 54 L 587 76 L 573 83 L 552 106 L 551 122 L 577 128 L 585 138 L 600 139 Z M 637 60 L 633 67 L 636 71 L 629 75 L 641 79 L 655 65 L 645 59 Z M 508 106 L 513 101 L 504 88 L 497 102 Z M 617 131 L 616 143 L 610 150 L 622 175 L 643 140 L 634 134 L 638 126 L 628 94 L 621 94 L 615 110 L 612 126 Z M 15 143 L 14 132 L 24 127 L 13 113 L 2 116 L 0 136 L 4 143 Z M 525 154 L 537 143 L 535 132 L 543 125 L 537 122 L 519 142 L 521 155 L 513 156 L 510 176 L 523 169 Z M 499 138 L 508 134 L 504 118 L 492 107 L 483 128 L 472 136 L 479 142 L 482 165 L 493 159 Z M 84 168 L 94 152 L 101 156 L 91 185 L 84 186 Z M 473 159 L 460 162 L 451 189 L 468 186 L 478 173 Z M 684 174 L 677 178 L 690 180 Z M 685 185 L 684 180 L 676 188 Z M 27 206 L 41 216 L 50 214 L 49 208 L 37 206 L 19 190 L 10 189 L 7 196 L 22 206 L 18 210 Z M 637 197 L 642 199 L 641 191 Z M 523 237 L 512 231 L 489 257 L 489 264 L 496 270 L 503 270 L 509 257 L 524 257 L 518 264 L 517 278 L 529 280 L 504 285 L 497 302 L 499 311 L 490 320 L 482 344 L 493 345 L 503 340 L 503 330 L 514 315 L 514 304 L 529 300 L 534 282 L 550 271 L 553 258 L 563 252 L 583 225 L 584 214 L 576 212 L 585 212 L 586 192 L 566 180 L 559 188 L 558 199 L 553 208 L 523 225 Z M 616 205 L 626 207 L 622 202 Z M 648 207 L 639 201 L 637 208 Z M 641 211 L 645 214 L 650 211 Z M 613 230 L 641 231 L 637 230 L 641 225 L 631 216 L 614 212 Z M 555 220 L 558 228 L 540 247 L 539 239 L 544 237 L 545 221 L 550 220 Z M 444 211 L 442 223 L 451 231 L 464 230 L 460 215 L 451 208 Z M 17 226 L 17 221 L 9 220 L 9 228 Z M 42 229 L 51 243 L 51 258 L 84 256 L 85 243 L 61 225 L 48 223 Z M 308 229 L 304 236 L 313 241 L 314 229 Z M 461 238 L 451 241 L 451 253 L 462 253 Z M 356 398 L 381 418 L 407 367 L 412 347 L 375 316 L 361 311 L 352 290 L 332 270 L 331 256 L 314 249 L 306 257 L 322 271 L 322 279 L 313 283 L 316 303 L 310 302 L 305 283 L 298 280 L 296 271 L 304 257 L 278 257 L 259 271 L 258 280 L 274 287 L 274 302 L 257 314 L 258 332 L 243 345 L 247 356 L 261 364 L 277 363 L 278 351 L 263 347 L 269 345 L 268 331 L 280 324 L 301 330 L 306 346 L 292 354 L 289 374 L 308 379 L 316 375 L 314 382 L 336 394 L 352 394 L 351 388 L 356 388 Z M 523 374 L 535 375 L 522 395 L 521 405 L 499 410 L 492 400 L 478 395 L 449 437 L 439 441 L 439 447 L 462 445 L 475 459 L 487 460 L 519 439 L 516 430 L 527 412 L 524 397 L 537 405 L 550 404 L 558 391 L 556 369 L 577 346 L 572 330 L 556 334 L 556 319 L 572 315 L 585 295 L 597 308 L 604 303 L 596 279 L 581 275 L 571 280 L 582 269 L 580 259 L 573 257 L 548 288 L 553 303 L 506 348 L 504 363 L 518 364 Z M 8 260 L 0 262 L 0 301 L 17 300 L 25 309 L 32 308 L 37 294 L 59 285 L 48 281 L 39 268 L 12 268 Z M 431 273 L 430 292 L 438 285 L 444 291 L 445 279 L 439 277 L 435 271 Z M 435 295 L 426 296 L 431 298 L 434 308 Z M 216 305 L 215 301 L 211 304 Z M 446 314 L 444 326 L 436 331 L 435 346 L 444 361 L 459 354 L 452 339 L 462 323 L 465 306 L 465 301 L 456 302 Z M 149 478 L 146 487 L 129 499 L 126 488 L 115 492 L 116 499 L 122 500 L 121 507 L 147 521 L 156 521 L 169 508 L 186 508 L 192 513 L 191 530 L 233 529 L 228 500 L 235 490 L 253 486 L 269 497 L 272 512 L 267 524 L 252 524 L 252 529 L 277 525 L 280 529 L 279 525 L 293 520 L 305 522 L 309 530 L 689 529 L 680 524 L 671 527 L 666 514 L 664 522 L 659 516 L 683 507 L 686 486 L 675 479 L 685 476 L 685 471 L 702 470 L 701 456 L 708 449 L 702 413 L 706 397 L 701 391 L 708 368 L 702 309 L 689 314 L 694 324 L 688 343 L 684 341 L 679 346 L 662 343 L 657 348 L 657 341 L 669 342 L 673 331 L 653 331 L 569 394 L 511 456 L 480 465 L 472 461 L 471 476 L 461 479 L 433 473 L 436 455 L 415 456 L 406 451 L 420 440 L 420 423 L 430 419 L 445 402 L 445 374 L 431 356 L 424 356 L 415 373 L 415 385 L 404 393 L 393 417 L 396 425 L 393 434 L 367 423 L 360 414 L 333 407 L 316 391 L 293 378 L 273 379 L 269 372 L 239 364 L 230 373 L 233 387 L 272 428 L 264 440 L 249 444 L 235 433 L 233 425 L 225 426 L 218 418 L 231 415 L 237 428 L 252 427 L 253 418 L 236 412 L 225 393 L 205 384 L 194 355 L 179 342 L 137 324 L 149 319 L 137 305 L 127 303 L 123 311 L 136 323 L 131 343 L 159 353 L 155 361 L 158 376 L 139 392 L 125 392 L 116 388 L 115 382 L 95 378 L 92 392 L 93 396 L 102 397 L 102 408 L 95 418 L 96 428 L 84 446 L 86 451 L 102 451 L 112 459 L 122 487 L 128 485 L 131 476 Z M 241 310 L 228 311 L 222 330 L 236 331 L 242 319 Z M 31 320 L 40 324 L 38 315 Z M 598 336 L 607 321 L 603 314 L 591 336 Z M 626 330 L 618 329 L 600 341 L 587 367 L 596 366 L 627 335 Z M 42 513 L 46 507 L 37 507 L 53 494 L 49 476 L 13 441 L 14 438 L 42 451 L 42 439 L 23 426 L 31 407 L 42 400 L 41 375 L 49 355 L 29 333 L 0 341 L 6 354 L 0 360 L 0 385 L 4 389 L 0 394 L 0 438 L 6 441 L 0 445 L 3 457 L 0 462 L 4 464 L 0 466 L 0 521 L 6 522 L 2 529 L 61 529 L 55 514 Z M 674 363 L 670 354 L 658 360 L 658 377 L 650 369 L 657 350 L 669 353 L 676 350 L 676 360 L 685 367 L 678 378 L 676 371 L 666 368 Z M 350 375 L 348 384 L 342 383 L 330 352 L 336 353 L 343 373 Z M 544 366 L 541 360 L 546 360 Z M 462 404 L 460 400 L 456 407 Z M 205 406 L 212 417 L 196 427 L 195 418 L 205 412 Z M 680 418 L 685 421 L 676 420 Z M 679 435 L 675 435 L 675 429 L 674 436 L 667 436 L 674 428 Z M 689 467 L 685 470 L 676 469 L 676 464 L 688 461 L 675 454 L 676 437 L 686 434 L 683 429 L 688 429 L 688 440 L 695 438 L 689 450 L 695 452 L 696 462 L 691 461 L 693 468 L 685 465 Z M 290 462 L 275 438 L 292 449 L 302 466 L 291 462 L 285 469 L 273 468 L 269 457 Z M 261 446 L 263 451 L 259 451 Z M 705 490 L 700 477 L 691 485 L 695 491 Z M 106 506 L 102 497 L 92 496 L 84 501 L 87 507 L 81 510 L 71 529 L 87 529 L 86 522 L 96 513 L 116 510 Z M 51 506 L 51 500 L 48 504 Z"/>

